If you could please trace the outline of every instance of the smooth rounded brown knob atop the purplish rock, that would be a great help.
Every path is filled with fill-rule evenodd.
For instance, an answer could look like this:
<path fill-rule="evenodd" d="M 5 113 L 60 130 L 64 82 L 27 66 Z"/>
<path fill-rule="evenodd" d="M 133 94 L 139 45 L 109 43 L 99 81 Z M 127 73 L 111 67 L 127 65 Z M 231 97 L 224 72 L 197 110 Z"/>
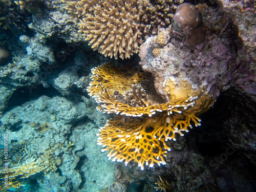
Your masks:
<path fill-rule="evenodd" d="M 201 44 L 205 38 L 202 15 L 194 5 L 189 3 L 178 6 L 172 20 L 172 30 L 188 48 Z"/>

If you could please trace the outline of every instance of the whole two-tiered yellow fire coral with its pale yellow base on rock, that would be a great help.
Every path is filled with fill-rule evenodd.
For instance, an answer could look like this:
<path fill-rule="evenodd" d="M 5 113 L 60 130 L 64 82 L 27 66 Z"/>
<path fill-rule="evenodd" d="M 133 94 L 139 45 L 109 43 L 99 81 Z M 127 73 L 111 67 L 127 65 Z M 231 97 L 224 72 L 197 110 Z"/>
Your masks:
<path fill-rule="evenodd" d="M 99 130 L 98 144 L 104 147 L 101 151 L 110 151 L 109 159 L 125 160 L 125 165 L 134 160 L 141 169 L 144 169 L 144 164 L 150 167 L 154 163 L 166 164 L 164 157 L 170 147 L 165 142 L 175 141 L 176 133 L 183 136 L 183 131 L 192 128 L 191 122 L 201 125 L 197 115 L 206 111 L 213 102 L 203 90 L 193 90 L 189 82 L 182 81 L 177 89 L 174 81 L 169 79 L 164 90 L 167 102 L 160 103 L 152 97 L 152 90 L 147 90 L 147 104 L 130 106 L 118 99 L 124 98 L 124 90 L 131 87 L 147 89 L 146 83 L 150 82 L 147 73 L 132 71 L 128 67 L 119 68 L 111 63 L 93 68 L 92 73 L 87 91 L 99 103 L 97 109 L 116 114 Z"/>

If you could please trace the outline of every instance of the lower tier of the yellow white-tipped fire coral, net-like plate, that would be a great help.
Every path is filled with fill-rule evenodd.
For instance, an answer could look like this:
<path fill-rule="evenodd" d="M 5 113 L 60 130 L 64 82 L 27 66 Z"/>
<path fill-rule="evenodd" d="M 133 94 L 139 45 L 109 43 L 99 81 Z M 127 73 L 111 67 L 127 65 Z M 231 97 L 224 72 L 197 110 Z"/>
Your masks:
<path fill-rule="evenodd" d="M 181 119 L 179 119 L 181 118 Z M 163 157 L 170 151 L 165 143 L 167 140 L 176 140 L 175 134 L 184 136 L 183 131 L 188 132 L 192 127 L 190 121 L 196 126 L 200 125 L 199 118 L 189 114 L 187 118 L 182 115 L 169 116 L 167 113 L 159 113 L 152 117 L 127 118 L 116 115 L 114 120 L 108 121 L 98 134 L 98 144 L 105 148 L 101 152 L 109 151 L 109 159 L 117 160 L 125 164 L 134 160 L 138 166 L 144 169 L 154 163 L 166 164 Z"/>

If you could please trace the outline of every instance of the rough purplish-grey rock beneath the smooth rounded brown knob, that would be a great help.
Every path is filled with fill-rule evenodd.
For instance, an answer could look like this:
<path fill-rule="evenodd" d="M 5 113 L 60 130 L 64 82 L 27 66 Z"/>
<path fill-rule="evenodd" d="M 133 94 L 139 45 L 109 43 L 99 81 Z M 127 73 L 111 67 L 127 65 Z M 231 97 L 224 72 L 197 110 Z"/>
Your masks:
<path fill-rule="evenodd" d="M 236 65 L 232 61 L 236 53 L 229 39 L 221 39 L 216 35 L 206 36 L 203 46 L 190 52 L 173 38 L 163 47 L 157 58 L 151 53 L 154 41 L 154 37 L 151 37 L 142 45 L 142 50 L 146 49 L 147 55 L 141 58 L 140 64 L 144 71 L 153 74 L 155 88 L 163 97 L 163 82 L 170 77 L 174 78 L 177 84 L 182 79 L 188 79 L 195 89 L 204 88 L 214 98 L 217 98 L 220 90 L 232 80 L 232 70 L 228 69 L 229 66 Z"/>

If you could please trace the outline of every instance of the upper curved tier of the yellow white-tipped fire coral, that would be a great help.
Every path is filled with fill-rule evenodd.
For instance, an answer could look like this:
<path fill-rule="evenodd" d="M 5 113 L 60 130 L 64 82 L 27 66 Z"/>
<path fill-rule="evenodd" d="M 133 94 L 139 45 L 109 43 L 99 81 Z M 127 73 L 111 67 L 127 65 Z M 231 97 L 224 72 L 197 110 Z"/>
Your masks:
<path fill-rule="evenodd" d="M 137 69 L 137 68 L 136 68 Z M 100 67 L 92 69 L 92 81 L 87 88 L 89 95 L 95 98 L 100 105 L 98 110 L 103 113 L 115 113 L 126 116 L 141 117 L 144 114 L 152 116 L 156 112 L 167 111 L 181 113 L 179 108 L 187 108 L 194 104 L 196 97 L 189 96 L 167 103 L 153 104 L 147 102 L 145 106 L 131 107 L 123 101 L 124 91 L 130 90 L 133 84 L 139 85 L 150 78 L 150 75 L 145 72 L 133 72 L 131 68 L 118 68 L 111 63 L 105 63 Z M 120 99 L 121 97 L 121 99 Z M 123 102 L 120 102 L 123 101 Z M 156 101 L 151 101 L 156 102 Z M 145 101 L 146 103 L 146 101 Z"/>

